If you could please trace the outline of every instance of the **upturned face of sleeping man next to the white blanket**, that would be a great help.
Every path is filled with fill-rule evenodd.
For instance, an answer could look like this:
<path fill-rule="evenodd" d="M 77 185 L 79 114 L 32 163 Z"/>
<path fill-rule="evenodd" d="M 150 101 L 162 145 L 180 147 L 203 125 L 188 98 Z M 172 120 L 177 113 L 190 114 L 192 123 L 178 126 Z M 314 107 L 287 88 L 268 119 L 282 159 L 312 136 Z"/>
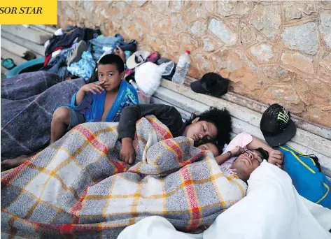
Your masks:
<path fill-rule="evenodd" d="M 248 180 L 255 168 L 262 163 L 263 158 L 260 152 L 256 150 L 246 150 L 240 154 L 233 163 L 233 169 L 241 180 Z"/>

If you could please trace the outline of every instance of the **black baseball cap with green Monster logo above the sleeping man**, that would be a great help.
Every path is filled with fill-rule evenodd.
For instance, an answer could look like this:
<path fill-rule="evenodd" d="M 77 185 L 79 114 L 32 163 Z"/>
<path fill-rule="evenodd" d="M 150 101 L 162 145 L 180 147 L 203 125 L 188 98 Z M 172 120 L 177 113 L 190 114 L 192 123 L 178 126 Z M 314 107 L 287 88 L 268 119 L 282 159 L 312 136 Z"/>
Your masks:
<path fill-rule="evenodd" d="M 269 145 L 278 147 L 295 136 L 297 127 L 290 117 L 290 112 L 278 103 L 274 103 L 265 110 L 260 129 Z"/>

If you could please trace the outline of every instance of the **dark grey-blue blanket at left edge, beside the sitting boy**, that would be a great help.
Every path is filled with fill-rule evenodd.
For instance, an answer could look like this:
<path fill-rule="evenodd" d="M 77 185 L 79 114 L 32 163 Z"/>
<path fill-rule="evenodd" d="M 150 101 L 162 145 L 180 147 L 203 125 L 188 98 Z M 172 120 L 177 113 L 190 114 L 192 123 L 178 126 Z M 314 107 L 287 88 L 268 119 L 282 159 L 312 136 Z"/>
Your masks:
<path fill-rule="evenodd" d="M 61 82 L 45 71 L 23 73 L 1 82 L 1 161 L 31 154 L 50 140 L 54 109 L 70 103 L 83 79 Z"/>

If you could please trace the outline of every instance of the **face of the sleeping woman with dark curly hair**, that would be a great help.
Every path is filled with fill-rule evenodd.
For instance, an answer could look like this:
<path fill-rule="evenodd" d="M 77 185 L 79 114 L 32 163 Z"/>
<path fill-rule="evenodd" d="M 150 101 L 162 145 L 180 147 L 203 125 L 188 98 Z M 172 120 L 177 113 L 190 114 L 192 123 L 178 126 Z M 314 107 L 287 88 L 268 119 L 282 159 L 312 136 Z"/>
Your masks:
<path fill-rule="evenodd" d="M 183 136 L 192 138 L 195 142 L 200 142 L 202 139 L 211 140 L 216 138 L 217 128 L 211 122 L 199 121 L 199 118 L 195 118 L 192 124 L 186 126 Z"/>

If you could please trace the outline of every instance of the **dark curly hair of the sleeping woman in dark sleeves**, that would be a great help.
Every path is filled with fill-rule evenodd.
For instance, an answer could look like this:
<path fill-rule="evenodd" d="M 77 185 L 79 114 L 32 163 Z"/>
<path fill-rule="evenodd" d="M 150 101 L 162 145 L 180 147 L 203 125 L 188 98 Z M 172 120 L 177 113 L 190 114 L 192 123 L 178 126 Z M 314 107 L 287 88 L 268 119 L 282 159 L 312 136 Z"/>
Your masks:
<path fill-rule="evenodd" d="M 199 117 L 199 121 L 206 121 L 214 124 L 217 128 L 216 145 L 218 149 L 223 148 L 225 143 L 230 142 L 230 132 L 232 131 L 232 120 L 229 111 L 225 108 L 219 110 L 218 108 L 211 107 L 209 110 L 204 111 L 200 115 L 192 114 L 187 124 L 192 124 L 193 119 Z M 220 150 L 222 152 L 222 150 Z"/>

